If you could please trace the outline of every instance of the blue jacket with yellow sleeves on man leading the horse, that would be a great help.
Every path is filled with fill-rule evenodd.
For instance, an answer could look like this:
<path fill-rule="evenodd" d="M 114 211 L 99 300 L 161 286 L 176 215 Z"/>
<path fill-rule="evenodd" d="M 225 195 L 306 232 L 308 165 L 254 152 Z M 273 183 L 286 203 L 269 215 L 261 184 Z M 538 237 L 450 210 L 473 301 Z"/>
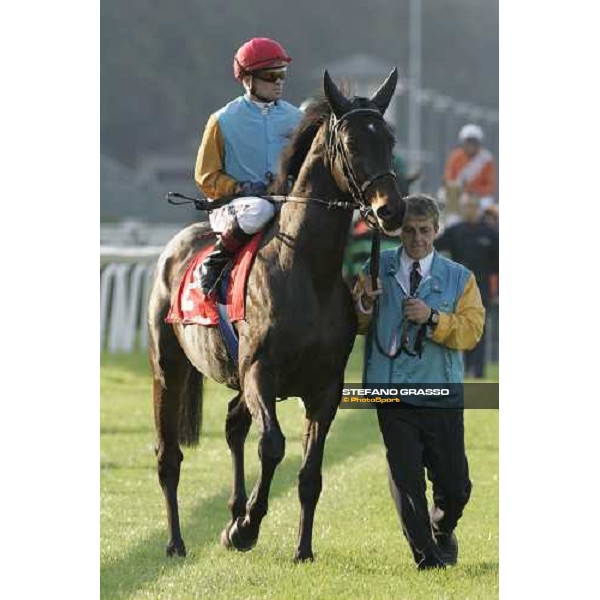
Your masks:
<path fill-rule="evenodd" d="M 379 299 L 378 322 L 371 323 L 368 329 L 363 383 L 462 383 L 464 365 L 460 350 L 474 346 L 481 337 L 485 311 L 473 274 L 435 251 L 430 275 L 421 281 L 416 297 L 437 309 L 441 316 L 433 334 L 427 328 L 422 357 L 419 359 L 402 352 L 391 360 L 382 355 L 375 345 L 375 326 L 383 348 L 390 352 L 392 339 L 400 339 L 404 325 L 403 301 L 407 296 L 397 279 L 401 250 L 402 246 L 380 255 L 379 277 L 383 292 Z M 368 262 L 364 272 L 369 274 Z M 455 315 L 459 302 L 462 302 L 460 311 L 464 314 Z M 418 329 L 419 325 L 411 323 L 409 326 L 411 349 Z M 450 329 L 454 330 L 452 335 Z M 451 347 L 460 344 L 465 347 Z M 411 397 L 410 403 L 427 404 L 420 401 L 421 398 Z"/>

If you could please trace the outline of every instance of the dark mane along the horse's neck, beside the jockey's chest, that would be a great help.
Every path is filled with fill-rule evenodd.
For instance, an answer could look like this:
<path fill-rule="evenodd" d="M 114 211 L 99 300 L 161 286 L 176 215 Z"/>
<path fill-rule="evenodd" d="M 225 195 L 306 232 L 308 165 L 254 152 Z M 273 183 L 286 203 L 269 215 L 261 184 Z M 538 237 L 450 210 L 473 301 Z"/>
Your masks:
<path fill-rule="evenodd" d="M 324 97 L 317 99 L 307 109 L 281 154 L 279 175 L 273 183 L 274 194 L 288 193 L 290 179 L 293 181 L 298 177 L 317 132 L 330 115 L 331 108 Z"/>

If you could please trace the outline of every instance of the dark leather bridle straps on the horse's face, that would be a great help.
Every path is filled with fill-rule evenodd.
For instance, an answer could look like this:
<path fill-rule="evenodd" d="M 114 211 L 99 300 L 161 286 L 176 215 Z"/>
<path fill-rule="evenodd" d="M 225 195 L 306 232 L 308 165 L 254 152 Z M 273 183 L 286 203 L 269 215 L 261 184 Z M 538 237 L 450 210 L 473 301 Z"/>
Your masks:
<path fill-rule="evenodd" d="M 367 225 L 369 225 L 371 229 L 379 229 L 379 224 L 377 223 L 377 219 L 373 214 L 373 209 L 367 203 L 365 193 L 377 180 L 382 179 L 383 177 L 393 177 L 396 179 L 396 174 L 390 169 L 388 171 L 377 173 L 362 183 L 358 181 L 356 173 L 354 172 L 352 164 L 350 163 L 350 159 L 348 158 L 346 147 L 344 146 L 341 136 L 339 135 L 340 125 L 348 117 L 357 114 L 369 117 L 377 117 L 383 121 L 382 114 L 374 108 L 356 108 L 348 111 L 339 118 L 337 118 L 335 114 L 331 113 L 329 122 L 329 136 L 327 138 L 326 145 L 327 158 L 329 160 L 330 168 L 333 170 L 335 159 L 338 156 L 340 157 L 344 178 L 346 179 L 350 194 L 352 195 L 354 202 L 357 204 L 361 216 L 363 219 L 365 219 Z"/>

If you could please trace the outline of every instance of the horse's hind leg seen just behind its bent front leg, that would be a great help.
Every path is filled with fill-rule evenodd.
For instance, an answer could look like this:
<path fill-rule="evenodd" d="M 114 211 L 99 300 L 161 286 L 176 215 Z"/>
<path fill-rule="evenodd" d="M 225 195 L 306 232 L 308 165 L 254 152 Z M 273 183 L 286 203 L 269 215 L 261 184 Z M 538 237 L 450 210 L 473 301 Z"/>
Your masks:
<path fill-rule="evenodd" d="M 231 452 L 233 461 L 233 489 L 228 506 L 231 511 L 231 521 L 221 533 L 221 543 L 227 548 L 231 547 L 229 531 L 239 517 L 246 513 L 246 482 L 244 479 L 244 442 L 252 423 L 252 417 L 242 400 L 241 393 L 237 394 L 229 403 L 227 419 L 225 421 L 225 438 Z"/>

